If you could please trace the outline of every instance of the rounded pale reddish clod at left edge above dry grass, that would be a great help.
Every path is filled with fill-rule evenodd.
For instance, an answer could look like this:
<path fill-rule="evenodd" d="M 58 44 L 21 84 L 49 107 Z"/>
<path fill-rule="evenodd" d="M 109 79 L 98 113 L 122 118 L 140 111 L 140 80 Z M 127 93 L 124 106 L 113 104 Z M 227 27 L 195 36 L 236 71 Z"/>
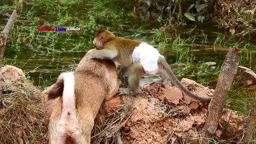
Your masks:
<path fill-rule="evenodd" d="M 17 83 L 26 81 L 26 76 L 23 71 L 14 66 L 4 66 L 1 68 L 1 76 L 5 83 Z"/>

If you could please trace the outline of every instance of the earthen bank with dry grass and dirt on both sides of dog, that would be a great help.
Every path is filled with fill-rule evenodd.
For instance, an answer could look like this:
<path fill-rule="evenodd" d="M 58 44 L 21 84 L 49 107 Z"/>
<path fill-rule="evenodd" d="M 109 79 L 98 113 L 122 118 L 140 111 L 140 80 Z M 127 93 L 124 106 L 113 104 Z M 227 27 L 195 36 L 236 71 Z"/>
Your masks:
<path fill-rule="evenodd" d="M 15 76 L 14 73 L 12 75 Z M 18 77 L 20 74 L 16 73 L 16 75 Z M 13 79 L 13 76 L 9 75 L 5 78 Z M 21 141 L 47 142 L 45 119 L 47 120 L 48 116 L 46 116 L 43 104 L 44 94 L 24 80 L 4 83 L 5 87 L 14 89 L 7 89 L 7 87 L 5 89 L 6 108 L 0 110 L 0 124 L 10 124 L 12 121 L 19 126 L 10 127 L 13 130 L 12 133 L 7 131 L 10 129 L 1 131 L 6 136 L 1 137 L 1 143 L 6 143 L 6 140 L 18 143 Z M 214 92 L 190 79 L 183 78 L 181 82 L 198 95 L 211 96 Z M 111 143 L 115 140 L 116 133 L 121 133 L 124 143 L 198 142 L 207 116 L 208 103 L 192 100 L 183 95 L 175 86 L 170 85 L 163 88 L 157 84 L 146 84 L 142 86 L 142 90 L 142 94 L 134 97 L 124 95 L 102 104 L 95 119 L 92 143 Z M 217 130 L 219 140 L 222 142 L 224 139 L 239 141 L 245 129 L 246 119 L 246 116 L 236 111 L 223 110 L 220 122 L 223 127 Z"/>

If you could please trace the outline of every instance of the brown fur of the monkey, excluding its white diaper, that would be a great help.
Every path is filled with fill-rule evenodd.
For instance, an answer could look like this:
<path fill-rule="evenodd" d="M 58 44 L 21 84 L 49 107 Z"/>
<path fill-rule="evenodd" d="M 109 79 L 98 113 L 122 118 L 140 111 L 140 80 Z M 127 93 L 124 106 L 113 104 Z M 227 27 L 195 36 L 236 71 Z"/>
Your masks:
<path fill-rule="evenodd" d="M 115 62 L 118 62 L 122 66 L 121 70 L 118 72 L 119 77 L 122 73 L 124 73 L 124 71 L 127 70 L 129 86 L 128 88 L 119 89 L 119 94 L 140 93 L 141 90 L 139 87 L 139 79 L 141 76 L 146 74 L 140 64 L 140 61 L 133 63 L 132 53 L 135 47 L 140 45 L 141 41 L 116 37 L 110 31 L 100 30 L 98 31 L 97 35 L 95 35 L 93 43 L 96 47 L 100 46 L 100 49 L 87 55 L 87 58 L 109 58 Z M 187 94 L 189 97 L 201 101 L 211 101 L 211 97 L 200 97 L 188 91 L 173 74 L 168 63 L 162 57 L 158 58 L 158 69 L 154 73 L 162 76 L 162 79 L 155 82 L 165 85 L 167 81 L 171 80 L 183 93 Z"/>

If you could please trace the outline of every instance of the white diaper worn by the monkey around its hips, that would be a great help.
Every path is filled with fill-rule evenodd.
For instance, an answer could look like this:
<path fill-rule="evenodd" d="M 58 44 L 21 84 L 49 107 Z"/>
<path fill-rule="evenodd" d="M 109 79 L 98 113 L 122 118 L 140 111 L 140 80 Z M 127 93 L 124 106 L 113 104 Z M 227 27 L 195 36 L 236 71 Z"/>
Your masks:
<path fill-rule="evenodd" d="M 163 57 L 163 55 L 155 47 L 146 43 L 141 43 L 132 52 L 133 63 L 140 61 L 145 73 L 148 75 L 154 75 L 158 72 L 158 57 Z"/>

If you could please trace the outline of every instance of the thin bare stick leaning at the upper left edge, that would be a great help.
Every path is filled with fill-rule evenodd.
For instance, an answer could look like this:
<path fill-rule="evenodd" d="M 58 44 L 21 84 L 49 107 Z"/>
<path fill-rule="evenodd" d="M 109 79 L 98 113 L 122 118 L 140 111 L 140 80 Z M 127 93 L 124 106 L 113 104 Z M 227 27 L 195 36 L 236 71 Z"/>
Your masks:
<path fill-rule="evenodd" d="M 10 30 L 13 27 L 13 24 L 14 24 L 15 20 L 18 17 L 18 13 L 21 10 L 22 1 L 23 0 L 19 0 L 19 3 L 18 3 L 18 6 L 17 6 L 16 10 L 14 10 L 12 12 L 12 15 L 11 15 L 10 19 L 8 20 L 7 24 L 4 27 L 4 30 L 1 32 L 1 35 L 0 35 L 0 70 L 1 70 L 1 67 L 2 67 L 2 61 L 3 61 L 3 57 L 4 57 L 4 49 L 5 49 L 5 46 L 6 46 L 7 37 L 8 37 L 8 34 L 9 34 Z M 2 77 L 1 77 L 0 80 L 2 81 Z M 3 90 L 2 90 L 2 85 L 0 85 L 0 107 L 2 107 L 4 105 L 2 99 L 3 99 Z"/>

